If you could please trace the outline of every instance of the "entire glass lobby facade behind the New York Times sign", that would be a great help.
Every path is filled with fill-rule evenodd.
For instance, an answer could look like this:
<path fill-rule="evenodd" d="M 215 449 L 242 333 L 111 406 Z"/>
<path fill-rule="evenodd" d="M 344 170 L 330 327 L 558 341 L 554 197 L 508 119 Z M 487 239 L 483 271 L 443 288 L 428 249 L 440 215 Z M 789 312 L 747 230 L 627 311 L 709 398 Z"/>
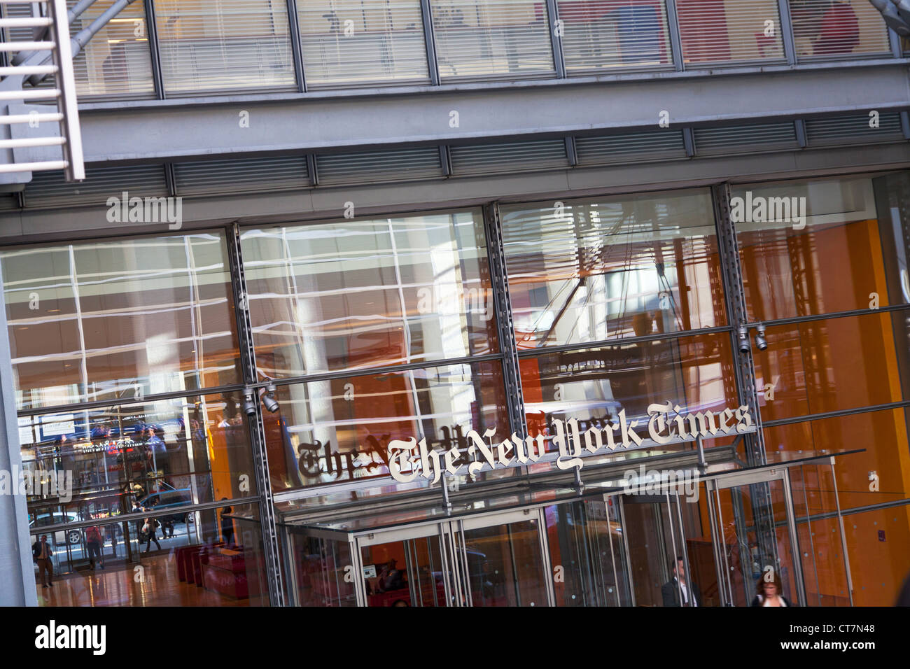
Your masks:
<path fill-rule="evenodd" d="M 25 469 L 74 480 L 29 497 L 41 560 L 169 564 L 185 603 L 748 605 L 767 565 L 794 603 L 889 603 L 910 181 L 722 193 L 4 248 Z M 651 456 L 752 469 L 641 492 Z"/>

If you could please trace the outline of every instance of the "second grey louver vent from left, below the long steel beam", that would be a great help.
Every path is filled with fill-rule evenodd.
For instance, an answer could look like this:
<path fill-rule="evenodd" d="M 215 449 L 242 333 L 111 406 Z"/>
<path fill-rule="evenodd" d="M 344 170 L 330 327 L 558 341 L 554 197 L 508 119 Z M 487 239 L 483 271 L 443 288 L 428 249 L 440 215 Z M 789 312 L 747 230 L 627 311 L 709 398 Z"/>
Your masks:
<path fill-rule="evenodd" d="M 177 195 L 298 190 L 309 187 L 307 157 L 207 160 L 174 165 Z"/>

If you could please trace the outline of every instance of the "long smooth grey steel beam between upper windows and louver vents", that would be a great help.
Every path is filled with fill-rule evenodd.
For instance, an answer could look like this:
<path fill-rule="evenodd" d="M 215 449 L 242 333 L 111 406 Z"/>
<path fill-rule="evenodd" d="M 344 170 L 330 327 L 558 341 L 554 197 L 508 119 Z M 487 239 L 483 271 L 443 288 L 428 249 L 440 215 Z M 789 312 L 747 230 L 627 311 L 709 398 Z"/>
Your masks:
<path fill-rule="evenodd" d="M 910 108 L 906 64 L 811 67 L 737 76 L 657 73 L 553 84 L 440 86 L 359 95 L 274 94 L 89 104 L 86 162 L 344 152 L 656 128 L 743 124 Z M 555 86 L 555 87 L 554 87 Z M 349 92 L 348 92 L 349 93 Z M 459 127 L 450 127 L 450 111 Z M 249 113 L 240 127 L 238 114 Z M 42 128 L 35 128 L 40 134 Z M 22 158 L 24 159 L 24 157 Z"/>

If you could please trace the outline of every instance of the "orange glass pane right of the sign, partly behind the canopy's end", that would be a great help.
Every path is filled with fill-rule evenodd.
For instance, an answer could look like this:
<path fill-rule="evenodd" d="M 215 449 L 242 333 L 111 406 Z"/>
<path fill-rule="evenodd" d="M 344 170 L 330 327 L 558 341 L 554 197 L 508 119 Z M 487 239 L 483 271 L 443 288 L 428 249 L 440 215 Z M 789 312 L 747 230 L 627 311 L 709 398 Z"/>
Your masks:
<path fill-rule="evenodd" d="M 766 427 L 764 443 L 768 451 L 865 449 L 837 458 L 834 471 L 842 509 L 910 497 L 910 443 L 903 409 Z M 804 487 L 810 509 L 834 510 L 830 483 L 807 480 Z"/>

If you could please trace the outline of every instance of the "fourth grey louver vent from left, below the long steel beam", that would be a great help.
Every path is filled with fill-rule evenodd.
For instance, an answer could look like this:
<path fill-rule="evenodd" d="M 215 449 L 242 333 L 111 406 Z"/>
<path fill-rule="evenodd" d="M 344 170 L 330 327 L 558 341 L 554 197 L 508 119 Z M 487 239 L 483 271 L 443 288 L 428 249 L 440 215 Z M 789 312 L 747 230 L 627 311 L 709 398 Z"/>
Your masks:
<path fill-rule="evenodd" d="M 451 147 L 450 153 L 452 174 L 456 177 L 569 167 L 566 145 L 561 139 Z"/>

